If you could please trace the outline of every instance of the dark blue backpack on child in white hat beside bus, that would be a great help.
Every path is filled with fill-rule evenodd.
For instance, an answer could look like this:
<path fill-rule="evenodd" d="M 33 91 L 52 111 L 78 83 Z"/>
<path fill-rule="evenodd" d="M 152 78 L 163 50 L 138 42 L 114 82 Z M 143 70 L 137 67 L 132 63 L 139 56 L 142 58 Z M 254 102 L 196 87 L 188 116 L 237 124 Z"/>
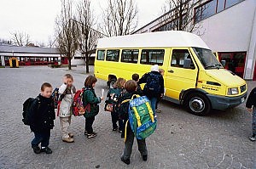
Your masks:
<path fill-rule="evenodd" d="M 149 72 L 143 92 L 150 95 L 160 93 L 160 75 Z"/>

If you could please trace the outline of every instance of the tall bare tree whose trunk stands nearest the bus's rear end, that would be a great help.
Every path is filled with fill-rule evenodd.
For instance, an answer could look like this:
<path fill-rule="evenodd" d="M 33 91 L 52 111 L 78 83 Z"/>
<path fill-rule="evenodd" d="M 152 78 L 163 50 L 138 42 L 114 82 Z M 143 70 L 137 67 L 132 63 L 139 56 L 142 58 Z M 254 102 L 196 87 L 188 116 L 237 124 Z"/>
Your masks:
<path fill-rule="evenodd" d="M 79 47 L 85 55 L 86 73 L 89 73 L 89 51 L 95 48 L 96 40 L 101 33 L 92 28 L 96 25 L 96 17 L 90 7 L 90 0 L 81 1 L 77 7 L 79 23 Z"/>

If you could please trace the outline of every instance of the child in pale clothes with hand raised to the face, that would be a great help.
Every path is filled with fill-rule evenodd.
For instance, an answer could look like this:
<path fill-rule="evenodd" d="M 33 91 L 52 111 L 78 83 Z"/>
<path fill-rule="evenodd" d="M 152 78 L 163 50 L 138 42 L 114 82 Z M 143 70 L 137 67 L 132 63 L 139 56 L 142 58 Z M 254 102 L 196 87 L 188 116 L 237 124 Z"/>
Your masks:
<path fill-rule="evenodd" d="M 73 76 L 66 74 L 63 76 L 63 84 L 59 88 L 60 96 L 60 125 L 62 133 L 62 141 L 73 143 L 73 134 L 68 132 L 71 123 L 73 96 L 76 93 L 76 88 L 73 86 Z"/>

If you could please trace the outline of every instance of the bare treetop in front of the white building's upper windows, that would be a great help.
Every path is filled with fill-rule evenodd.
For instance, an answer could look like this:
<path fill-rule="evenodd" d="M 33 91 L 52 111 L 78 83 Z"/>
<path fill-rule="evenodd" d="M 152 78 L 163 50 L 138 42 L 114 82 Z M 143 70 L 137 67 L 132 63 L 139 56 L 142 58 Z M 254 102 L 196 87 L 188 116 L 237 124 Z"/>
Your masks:
<path fill-rule="evenodd" d="M 162 31 L 177 30 L 195 32 L 200 29 L 201 24 L 195 23 L 195 17 L 201 11 L 194 10 L 194 8 L 195 5 L 201 3 L 202 0 L 166 0 L 166 6 L 163 8 L 166 14 L 160 20 Z"/>

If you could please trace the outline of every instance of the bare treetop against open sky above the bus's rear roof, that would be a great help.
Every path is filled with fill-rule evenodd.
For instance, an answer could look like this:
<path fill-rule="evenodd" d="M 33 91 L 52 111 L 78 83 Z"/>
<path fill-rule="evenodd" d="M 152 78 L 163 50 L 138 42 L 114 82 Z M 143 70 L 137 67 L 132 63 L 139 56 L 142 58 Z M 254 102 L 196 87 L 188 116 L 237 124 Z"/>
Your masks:
<path fill-rule="evenodd" d="M 137 28 L 137 5 L 133 0 L 108 0 L 102 31 L 108 37 L 128 35 Z"/>

